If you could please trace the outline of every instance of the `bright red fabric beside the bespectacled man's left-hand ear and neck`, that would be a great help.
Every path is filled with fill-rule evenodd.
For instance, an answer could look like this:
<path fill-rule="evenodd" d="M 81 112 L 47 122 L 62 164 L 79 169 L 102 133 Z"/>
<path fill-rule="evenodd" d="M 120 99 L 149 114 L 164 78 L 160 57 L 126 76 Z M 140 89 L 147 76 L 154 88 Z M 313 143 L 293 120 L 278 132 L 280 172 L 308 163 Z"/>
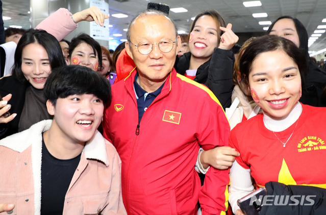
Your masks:
<path fill-rule="evenodd" d="M 135 67 L 136 65 L 133 59 L 127 54 L 126 48 L 124 48 L 121 51 L 115 65 L 117 77 L 114 80 L 114 83 L 127 78 L 130 74 L 130 71 L 132 71 Z"/>

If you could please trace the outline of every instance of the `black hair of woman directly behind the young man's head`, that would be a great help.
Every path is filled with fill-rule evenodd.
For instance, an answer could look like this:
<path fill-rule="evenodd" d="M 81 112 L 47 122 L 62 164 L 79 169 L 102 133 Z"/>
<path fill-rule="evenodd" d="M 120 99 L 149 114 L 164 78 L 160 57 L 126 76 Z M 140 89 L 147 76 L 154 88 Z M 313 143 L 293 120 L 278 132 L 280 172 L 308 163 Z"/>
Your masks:
<path fill-rule="evenodd" d="M 79 34 L 77 37 L 72 38 L 70 44 L 69 44 L 69 55 L 68 58 L 71 58 L 71 54 L 76 47 L 85 42 L 86 44 L 90 45 L 93 49 L 94 55 L 96 57 L 97 53 L 97 59 L 98 59 L 98 67 L 101 68 L 102 66 L 102 51 L 101 51 L 101 45 L 94 40 L 91 36 L 88 34 L 82 33 Z"/>

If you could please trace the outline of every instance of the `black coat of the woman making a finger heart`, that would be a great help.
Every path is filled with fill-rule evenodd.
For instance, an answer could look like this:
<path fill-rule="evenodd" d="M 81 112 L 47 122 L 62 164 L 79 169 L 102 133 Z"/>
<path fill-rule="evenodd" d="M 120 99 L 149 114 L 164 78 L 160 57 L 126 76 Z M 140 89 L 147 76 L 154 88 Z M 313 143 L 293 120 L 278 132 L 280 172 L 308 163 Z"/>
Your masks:
<path fill-rule="evenodd" d="M 175 70 L 185 75 L 189 69 L 191 53 L 185 53 L 179 58 Z M 205 84 L 215 94 L 223 109 L 231 106 L 233 90 L 234 55 L 230 50 L 214 49 L 210 60 L 200 65 L 194 81 Z"/>

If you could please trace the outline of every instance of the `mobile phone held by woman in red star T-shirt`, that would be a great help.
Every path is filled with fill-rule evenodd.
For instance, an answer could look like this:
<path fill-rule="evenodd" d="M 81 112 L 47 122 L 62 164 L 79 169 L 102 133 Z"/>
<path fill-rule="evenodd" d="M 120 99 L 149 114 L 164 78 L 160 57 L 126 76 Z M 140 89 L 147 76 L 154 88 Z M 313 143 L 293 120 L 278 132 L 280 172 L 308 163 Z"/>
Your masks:
<path fill-rule="evenodd" d="M 239 199 L 237 204 L 245 215 L 258 215 L 263 206 L 263 199 L 265 196 L 267 196 L 266 188 L 260 187 L 254 192 Z"/>

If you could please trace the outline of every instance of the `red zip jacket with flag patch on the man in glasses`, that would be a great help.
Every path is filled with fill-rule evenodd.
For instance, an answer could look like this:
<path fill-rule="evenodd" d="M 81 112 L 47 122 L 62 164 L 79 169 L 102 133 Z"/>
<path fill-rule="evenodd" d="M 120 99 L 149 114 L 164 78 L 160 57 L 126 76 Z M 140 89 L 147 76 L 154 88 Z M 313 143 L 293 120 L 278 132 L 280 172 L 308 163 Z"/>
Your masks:
<path fill-rule="evenodd" d="M 205 150 L 228 145 L 230 126 L 216 97 L 173 68 L 136 135 L 135 75 L 112 86 L 103 121 L 104 136 L 112 140 L 122 161 L 122 198 L 128 214 L 197 214 L 198 199 L 203 214 L 225 211 L 229 170 L 210 168 L 203 187 L 194 170 L 199 145 Z M 164 113 L 172 112 L 178 123 L 163 121 Z"/>

